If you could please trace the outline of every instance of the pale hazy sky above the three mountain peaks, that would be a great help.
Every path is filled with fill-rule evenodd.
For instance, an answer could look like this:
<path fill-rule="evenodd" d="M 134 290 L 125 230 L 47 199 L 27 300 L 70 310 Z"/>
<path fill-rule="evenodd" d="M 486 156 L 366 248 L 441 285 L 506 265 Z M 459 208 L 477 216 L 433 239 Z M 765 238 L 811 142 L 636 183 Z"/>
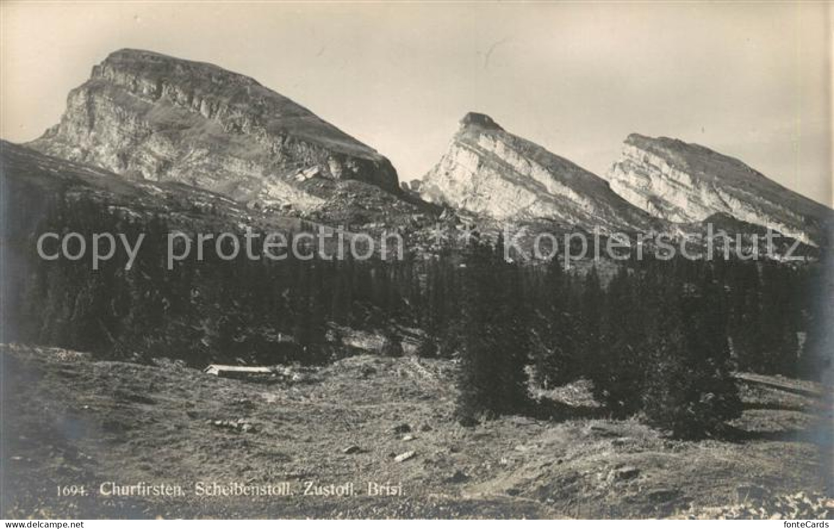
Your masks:
<path fill-rule="evenodd" d="M 418 179 L 489 114 L 596 174 L 632 132 L 831 192 L 827 3 L 2 3 L 0 135 L 37 138 L 119 48 L 256 78 Z"/>

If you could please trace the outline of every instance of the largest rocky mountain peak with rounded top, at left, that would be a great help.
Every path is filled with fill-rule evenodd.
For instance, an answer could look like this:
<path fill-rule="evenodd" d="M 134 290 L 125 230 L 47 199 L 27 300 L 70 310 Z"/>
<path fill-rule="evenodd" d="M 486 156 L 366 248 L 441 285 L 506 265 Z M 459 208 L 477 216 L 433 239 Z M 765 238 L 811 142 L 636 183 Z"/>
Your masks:
<path fill-rule="evenodd" d="M 29 146 L 127 177 L 298 209 L 323 203 L 325 180 L 399 185 L 384 156 L 254 79 L 131 49 L 94 67 L 61 122 Z"/>

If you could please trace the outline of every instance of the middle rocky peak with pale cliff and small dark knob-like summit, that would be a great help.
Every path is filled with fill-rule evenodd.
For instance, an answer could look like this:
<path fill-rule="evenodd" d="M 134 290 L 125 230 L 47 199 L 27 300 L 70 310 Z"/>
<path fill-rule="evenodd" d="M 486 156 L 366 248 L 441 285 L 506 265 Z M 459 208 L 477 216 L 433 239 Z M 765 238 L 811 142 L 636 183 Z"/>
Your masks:
<path fill-rule="evenodd" d="M 652 224 L 650 215 L 620 198 L 604 179 L 479 113 L 461 120 L 440 163 L 423 178 L 420 194 L 499 220 L 545 219 L 604 231 Z"/>

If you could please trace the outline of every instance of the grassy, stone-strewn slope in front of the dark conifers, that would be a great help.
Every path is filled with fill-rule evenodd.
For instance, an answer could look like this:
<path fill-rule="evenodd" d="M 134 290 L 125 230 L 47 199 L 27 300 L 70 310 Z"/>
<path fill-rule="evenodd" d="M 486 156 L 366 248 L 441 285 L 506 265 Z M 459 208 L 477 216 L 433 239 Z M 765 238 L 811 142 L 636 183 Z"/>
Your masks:
<path fill-rule="evenodd" d="M 564 421 L 462 428 L 451 421 L 454 366 L 442 360 L 357 356 L 306 382 L 258 384 L 23 346 L 0 358 L 3 516 L 641 517 L 731 504 L 743 485 L 821 489 L 808 435 L 819 402 L 750 380 L 738 439 L 681 442 L 593 418 L 581 384 L 550 395 Z M 255 431 L 212 422 L 228 420 Z M 402 423 L 413 440 L 394 433 Z M 344 454 L 352 445 L 362 451 Z M 405 451 L 415 456 L 394 461 Z M 640 473 L 611 481 L 622 466 Z M 200 480 L 286 480 L 297 494 L 303 481 L 354 481 L 358 496 L 207 499 L 189 491 Z M 402 482 L 404 497 L 366 496 L 367 480 Z M 178 483 L 188 496 L 56 497 L 58 485 L 102 481 Z"/>

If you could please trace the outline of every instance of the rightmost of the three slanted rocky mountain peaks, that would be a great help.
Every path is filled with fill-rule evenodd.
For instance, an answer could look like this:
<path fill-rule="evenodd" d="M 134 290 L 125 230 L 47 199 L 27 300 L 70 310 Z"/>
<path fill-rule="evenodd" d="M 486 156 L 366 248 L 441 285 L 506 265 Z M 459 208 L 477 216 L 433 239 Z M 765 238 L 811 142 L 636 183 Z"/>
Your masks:
<path fill-rule="evenodd" d="M 673 222 L 729 214 L 808 244 L 826 244 L 831 209 L 786 189 L 740 160 L 678 139 L 631 134 L 607 179 L 631 204 Z"/>

